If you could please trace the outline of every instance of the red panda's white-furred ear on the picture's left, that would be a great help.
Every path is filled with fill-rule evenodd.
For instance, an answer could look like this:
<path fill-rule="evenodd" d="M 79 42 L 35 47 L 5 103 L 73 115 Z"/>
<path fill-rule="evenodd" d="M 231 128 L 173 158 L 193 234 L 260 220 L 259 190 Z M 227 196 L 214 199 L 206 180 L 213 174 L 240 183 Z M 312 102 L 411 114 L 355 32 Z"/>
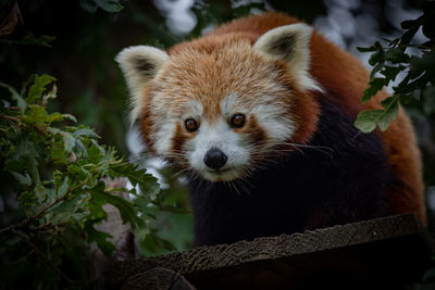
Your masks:
<path fill-rule="evenodd" d="M 163 50 L 148 46 L 129 47 L 116 55 L 130 93 L 132 123 L 142 112 L 145 85 L 158 74 L 167 58 Z"/>

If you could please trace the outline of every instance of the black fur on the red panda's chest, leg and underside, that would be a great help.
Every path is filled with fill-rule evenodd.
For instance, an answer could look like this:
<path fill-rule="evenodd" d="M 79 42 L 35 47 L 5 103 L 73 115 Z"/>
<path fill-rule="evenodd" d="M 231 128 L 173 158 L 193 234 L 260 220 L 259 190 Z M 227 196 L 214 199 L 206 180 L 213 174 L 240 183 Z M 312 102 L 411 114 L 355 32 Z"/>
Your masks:
<path fill-rule="evenodd" d="M 233 243 L 389 214 L 391 180 L 377 133 L 365 135 L 339 106 L 320 100 L 310 146 L 258 169 L 246 191 L 223 182 L 189 181 L 195 244 Z"/>

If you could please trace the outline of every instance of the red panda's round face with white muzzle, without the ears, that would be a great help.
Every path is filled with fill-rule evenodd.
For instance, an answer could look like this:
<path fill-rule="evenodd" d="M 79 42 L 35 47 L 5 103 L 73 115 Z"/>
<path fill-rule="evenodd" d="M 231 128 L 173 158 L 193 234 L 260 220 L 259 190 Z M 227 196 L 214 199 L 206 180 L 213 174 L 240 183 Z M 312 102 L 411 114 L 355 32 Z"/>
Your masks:
<path fill-rule="evenodd" d="M 294 131 L 282 70 L 247 41 L 171 55 L 150 84 L 153 149 L 212 181 L 253 171 Z"/>

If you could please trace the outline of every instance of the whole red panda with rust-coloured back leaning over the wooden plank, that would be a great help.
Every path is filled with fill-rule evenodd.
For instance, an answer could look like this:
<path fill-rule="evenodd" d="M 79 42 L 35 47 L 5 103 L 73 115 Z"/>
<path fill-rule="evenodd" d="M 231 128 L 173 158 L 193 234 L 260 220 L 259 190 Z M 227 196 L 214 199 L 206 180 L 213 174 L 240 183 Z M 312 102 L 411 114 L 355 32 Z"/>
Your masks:
<path fill-rule="evenodd" d="M 148 150 L 188 177 L 196 245 L 400 213 L 425 224 L 409 118 L 359 131 L 387 93 L 361 104 L 369 72 L 311 26 L 268 12 L 116 61 Z"/>

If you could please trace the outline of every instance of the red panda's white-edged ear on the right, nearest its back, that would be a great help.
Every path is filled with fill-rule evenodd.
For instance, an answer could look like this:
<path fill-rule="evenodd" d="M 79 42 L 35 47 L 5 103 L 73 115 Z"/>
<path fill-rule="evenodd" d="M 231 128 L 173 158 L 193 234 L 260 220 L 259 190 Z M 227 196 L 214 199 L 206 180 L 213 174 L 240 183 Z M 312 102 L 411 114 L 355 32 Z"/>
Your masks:
<path fill-rule="evenodd" d="M 321 90 L 309 74 L 313 28 L 302 23 L 281 26 L 263 34 L 253 45 L 260 53 L 285 61 L 301 90 Z"/>

